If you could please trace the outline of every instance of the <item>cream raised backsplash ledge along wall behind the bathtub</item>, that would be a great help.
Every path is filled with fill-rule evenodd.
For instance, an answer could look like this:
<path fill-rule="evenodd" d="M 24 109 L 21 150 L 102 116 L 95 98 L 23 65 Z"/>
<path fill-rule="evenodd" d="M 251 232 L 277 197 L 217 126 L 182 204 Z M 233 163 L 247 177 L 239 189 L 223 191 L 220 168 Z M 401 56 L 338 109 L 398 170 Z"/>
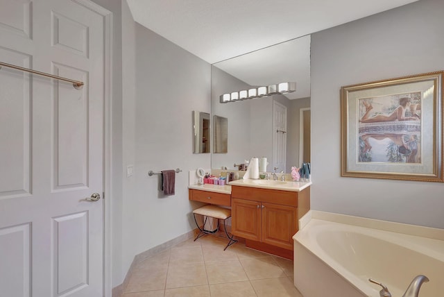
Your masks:
<path fill-rule="evenodd" d="M 336 214 L 334 212 L 321 212 L 319 210 L 309 210 L 299 219 L 299 230 L 302 230 L 311 219 L 320 219 L 323 221 L 332 221 L 344 223 L 352 226 L 385 230 L 390 232 L 427 237 L 444 241 L 444 229 L 426 226 L 411 225 L 407 223 L 398 223 L 392 221 L 382 221 L 377 219 L 368 219 L 364 217 L 355 217 L 348 214 Z"/>

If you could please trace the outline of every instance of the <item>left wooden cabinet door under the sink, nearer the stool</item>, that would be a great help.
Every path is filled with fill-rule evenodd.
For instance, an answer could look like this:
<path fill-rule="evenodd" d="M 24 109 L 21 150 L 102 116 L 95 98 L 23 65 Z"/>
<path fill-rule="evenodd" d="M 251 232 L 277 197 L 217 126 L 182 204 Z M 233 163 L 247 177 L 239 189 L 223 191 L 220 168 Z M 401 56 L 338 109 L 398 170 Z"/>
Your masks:
<path fill-rule="evenodd" d="M 259 202 L 232 198 L 231 215 L 232 234 L 260 241 L 261 208 Z"/>

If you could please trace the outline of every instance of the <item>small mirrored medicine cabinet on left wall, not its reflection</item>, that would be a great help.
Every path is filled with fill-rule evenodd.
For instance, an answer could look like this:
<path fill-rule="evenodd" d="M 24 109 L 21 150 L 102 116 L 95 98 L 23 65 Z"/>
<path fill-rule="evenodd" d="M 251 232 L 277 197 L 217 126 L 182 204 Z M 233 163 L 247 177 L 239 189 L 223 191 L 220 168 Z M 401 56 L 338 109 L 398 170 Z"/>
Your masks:
<path fill-rule="evenodd" d="M 193 153 L 210 153 L 210 114 L 193 111 Z"/>

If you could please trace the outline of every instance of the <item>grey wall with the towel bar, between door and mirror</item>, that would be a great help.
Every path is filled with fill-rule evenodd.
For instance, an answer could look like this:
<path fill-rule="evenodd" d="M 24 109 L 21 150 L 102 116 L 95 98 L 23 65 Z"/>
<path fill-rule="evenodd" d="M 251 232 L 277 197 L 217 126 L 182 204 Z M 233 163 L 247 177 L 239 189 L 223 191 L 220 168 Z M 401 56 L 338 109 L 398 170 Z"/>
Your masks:
<path fill-rule="evenodd" d="M 125 8 L 124 10 L 127 10 Z M 210 64 L 124 19 L 122 270 L 135 255 L 194 229 L 188 171 L 210 168 L 210 154 L 192 153 L 192 110 L 211 112 Z M 127 35 L 128 34 L 128 35 Z M 135 57 L 135 58 L 132 58 Z M 128 86 L 128 88 L 126 88 Z M 176 195 L 162 196 L 160 176 L 182 169 Z"/>

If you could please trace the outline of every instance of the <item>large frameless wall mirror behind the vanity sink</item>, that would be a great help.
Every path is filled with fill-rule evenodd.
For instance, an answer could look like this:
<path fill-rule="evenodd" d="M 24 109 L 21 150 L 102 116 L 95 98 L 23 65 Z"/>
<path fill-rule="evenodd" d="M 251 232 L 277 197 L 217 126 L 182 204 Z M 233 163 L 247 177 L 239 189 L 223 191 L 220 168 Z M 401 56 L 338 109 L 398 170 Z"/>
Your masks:
<path fill-rule="evenodd" d="M 296 92 L 229 103 L 219 100 L 221 94 L 284 82 L 296 82 Z M 276 171 L 289 173 L 291 166 L 309 162 L 301 160 L 309 153 L 300 152 L 309 150 L 300 146 L 301 131 L 309 131 L 309 121 L 301 121 L 307 113 L 300 110 L 309 111 L 309 106 L 309 35 L 213 64 L 212 115 L 228 119 L 229 125 L 227 152 L 212 153 L 212 168 L 234 170 L 234 164 L 251 157 L 266 157 L 267 171 L 277 167 Z M 302 128 L 301 122 L 306 123 Z"/>

